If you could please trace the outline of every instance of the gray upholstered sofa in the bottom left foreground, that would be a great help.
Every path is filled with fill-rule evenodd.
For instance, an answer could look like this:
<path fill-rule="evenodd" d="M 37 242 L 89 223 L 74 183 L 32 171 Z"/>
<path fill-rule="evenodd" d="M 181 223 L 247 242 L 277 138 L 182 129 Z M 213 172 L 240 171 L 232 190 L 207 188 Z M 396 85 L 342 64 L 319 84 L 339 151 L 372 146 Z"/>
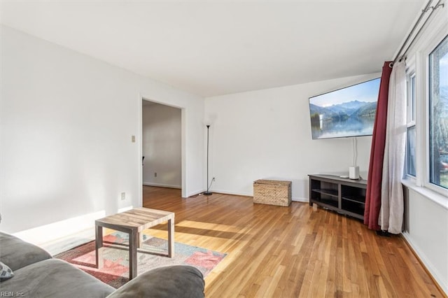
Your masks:
<path fill-rule="evenodd" d="M 13 297 L 204 297 L 204 278 L 195 267 L 171 266 L 153 269 L 119 289 L 45 250 L 0 232 L 0 262 L 12 271 L 1 278 L 0 293 Z"/>

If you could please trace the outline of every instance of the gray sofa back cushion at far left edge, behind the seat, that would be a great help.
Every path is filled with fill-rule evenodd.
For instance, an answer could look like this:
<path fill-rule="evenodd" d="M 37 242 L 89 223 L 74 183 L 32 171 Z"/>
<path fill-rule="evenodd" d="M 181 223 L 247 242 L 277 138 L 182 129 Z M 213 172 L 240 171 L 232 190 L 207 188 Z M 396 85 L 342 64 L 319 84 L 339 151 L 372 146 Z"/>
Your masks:
<path fill-rule="evenodd" d="M 13 271 L 50 258 L 51 255 L 42 248 L 0 232 L 0 261 Z"/>

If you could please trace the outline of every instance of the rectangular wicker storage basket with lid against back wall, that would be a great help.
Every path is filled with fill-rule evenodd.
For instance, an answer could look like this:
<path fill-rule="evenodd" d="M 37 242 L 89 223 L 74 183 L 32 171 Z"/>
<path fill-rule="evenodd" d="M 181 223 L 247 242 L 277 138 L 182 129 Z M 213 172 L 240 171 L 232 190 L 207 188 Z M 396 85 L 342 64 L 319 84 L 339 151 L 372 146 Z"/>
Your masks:
<path fill-rule="evenodd" d="M 291 182 L 281 180 L 256 180 L 253 182 L 253 202 L 276 206 L 291 203 Z"/>

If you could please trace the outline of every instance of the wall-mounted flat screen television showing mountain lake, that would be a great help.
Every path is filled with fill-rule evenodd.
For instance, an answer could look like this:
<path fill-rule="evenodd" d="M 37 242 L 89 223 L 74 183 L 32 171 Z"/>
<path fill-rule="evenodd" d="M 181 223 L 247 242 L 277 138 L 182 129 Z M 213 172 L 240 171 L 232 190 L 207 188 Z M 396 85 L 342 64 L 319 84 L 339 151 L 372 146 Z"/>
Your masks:
<path fill-rule="evenodd" d="M 369 136 L 373 132 L 379 78 L 309 98 L 313 139 Z"/>

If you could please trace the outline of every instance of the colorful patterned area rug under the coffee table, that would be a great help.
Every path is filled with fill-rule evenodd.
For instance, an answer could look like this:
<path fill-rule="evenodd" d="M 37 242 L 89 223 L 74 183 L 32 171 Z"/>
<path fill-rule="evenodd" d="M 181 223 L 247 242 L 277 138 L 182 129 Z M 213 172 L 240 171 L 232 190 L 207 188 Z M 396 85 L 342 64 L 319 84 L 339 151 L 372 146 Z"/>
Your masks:
<path fill-rule="evenodd" d="M 95 264 L 95 241 L 59 253 L 55 257 L 75 265 L 113 288 L 120 288 L 129 281 L 129 237 L 125 233 L 114 232 L 104 236 L 103 242 L 104 266 L 101 269 L 96 268 Z M 137 251 L 138 274 L 158 267 L 184 264 L 196 267 L 205 277 L 227 255 L 176 242 L 174 257 L 170 258 L 167 257 L 168 241 L 147 235 L 144 235 L 141 249 L 145 252 Z"/>

